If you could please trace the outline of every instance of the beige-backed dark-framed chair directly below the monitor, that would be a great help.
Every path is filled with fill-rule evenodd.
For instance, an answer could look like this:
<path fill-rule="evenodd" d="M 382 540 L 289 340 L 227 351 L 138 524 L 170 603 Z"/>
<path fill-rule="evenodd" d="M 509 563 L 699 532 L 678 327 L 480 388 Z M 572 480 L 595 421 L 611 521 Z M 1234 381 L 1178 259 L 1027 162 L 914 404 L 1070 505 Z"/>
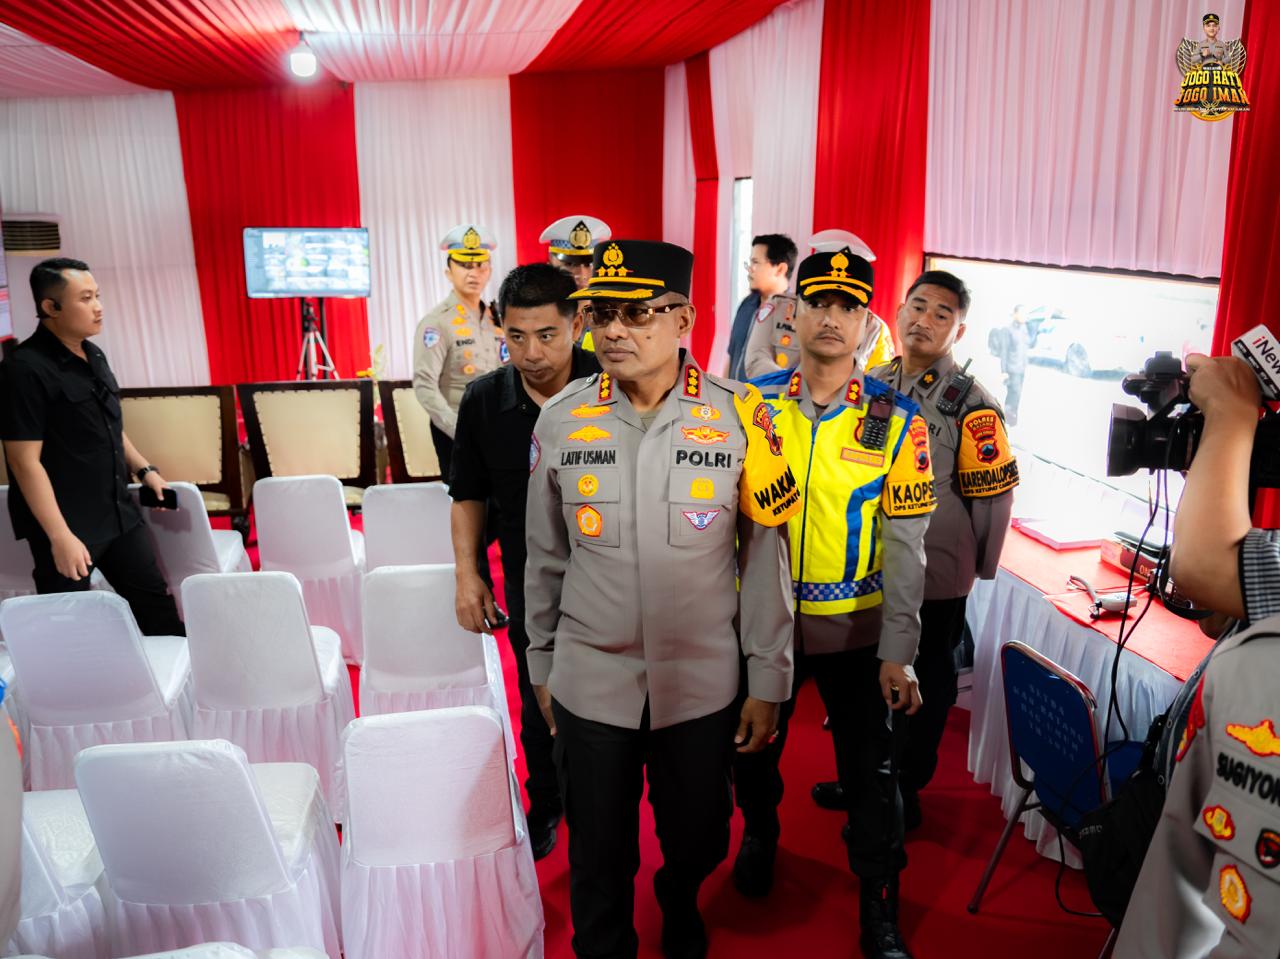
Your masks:
<path fill-rule="evenodd" d="M 347 507 L 360 507 L 378 481 L 371 380 L 241 383 L 236 392 L 257 479 L 337 476 Z"/>

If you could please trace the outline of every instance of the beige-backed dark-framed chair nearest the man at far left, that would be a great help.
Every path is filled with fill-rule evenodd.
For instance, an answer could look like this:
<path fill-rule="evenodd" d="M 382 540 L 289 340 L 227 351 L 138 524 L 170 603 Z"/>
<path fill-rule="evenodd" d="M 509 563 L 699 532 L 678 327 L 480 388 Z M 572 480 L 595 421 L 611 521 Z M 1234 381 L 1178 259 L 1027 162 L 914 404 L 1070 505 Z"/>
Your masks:
<path fill-rule="evenodd" d="M 124 431 L 170 481 L 200 488 L 210 516 L 248 530 L 248 490 L 232 387 L 145 387 L 120 391 Z"/>

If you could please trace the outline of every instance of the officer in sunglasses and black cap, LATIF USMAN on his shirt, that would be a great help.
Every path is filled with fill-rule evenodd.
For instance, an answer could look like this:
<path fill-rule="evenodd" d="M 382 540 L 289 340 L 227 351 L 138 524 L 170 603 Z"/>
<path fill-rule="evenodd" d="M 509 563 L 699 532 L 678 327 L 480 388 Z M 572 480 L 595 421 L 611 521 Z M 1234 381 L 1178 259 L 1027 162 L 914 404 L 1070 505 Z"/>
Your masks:
<path fill-rule="evenodd" d="M 573 296 L 604 373 L 543 406 L 530 448 L 529 672 L 556 735 L 580 956 L 636 955 L 646 768 L 663 951 L 707 954 L 698 889 L 728 853 L 733 748 L 763 748 L 791 693 L 800 494 L 759 391 L 680 348 L 691 271 L 669 243 L 595 247 Z"/>

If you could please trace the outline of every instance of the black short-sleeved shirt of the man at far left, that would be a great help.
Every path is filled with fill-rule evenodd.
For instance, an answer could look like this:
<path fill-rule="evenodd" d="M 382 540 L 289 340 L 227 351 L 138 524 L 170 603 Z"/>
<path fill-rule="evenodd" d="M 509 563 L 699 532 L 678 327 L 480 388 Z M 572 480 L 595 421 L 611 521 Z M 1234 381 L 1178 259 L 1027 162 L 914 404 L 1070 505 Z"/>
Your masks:
<path fill-rule="evenodd" d="M 81 360 L 45 324 L 0 364 L 0 439 L 44 442 L 40 462 L 63 519 L 82 543 L 115 539 L 142 522 L 129 496 L 120 385 L 106 353 L 84 341 Z M 44 531 L 9 469 L 9 517 L 18 539 Z"/>

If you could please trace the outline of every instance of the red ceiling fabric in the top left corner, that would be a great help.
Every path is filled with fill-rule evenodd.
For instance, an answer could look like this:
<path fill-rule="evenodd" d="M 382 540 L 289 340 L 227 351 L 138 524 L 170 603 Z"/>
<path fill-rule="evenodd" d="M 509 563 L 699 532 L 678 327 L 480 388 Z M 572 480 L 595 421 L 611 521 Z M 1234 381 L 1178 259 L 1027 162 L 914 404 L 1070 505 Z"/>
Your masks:
<path fill-rule="evenodd" d="M 280 0 L 0 0 L 0 22 L 160 90 L 280 83 L 298 42 Z"/>

